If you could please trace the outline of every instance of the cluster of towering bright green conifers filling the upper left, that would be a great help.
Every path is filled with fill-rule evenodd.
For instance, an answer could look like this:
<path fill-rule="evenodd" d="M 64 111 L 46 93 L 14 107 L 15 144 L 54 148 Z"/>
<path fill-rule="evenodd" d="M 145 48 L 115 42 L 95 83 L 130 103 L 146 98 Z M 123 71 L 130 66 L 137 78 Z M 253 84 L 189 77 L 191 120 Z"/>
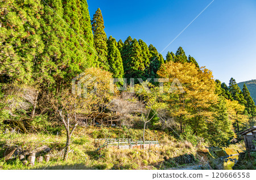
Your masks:
<path fill-rule="evenodd" d="M 39 0 L 1 2 L 1 82 L 35 81 L 59 92 L 93 65 L 95 50 L 86 1 L 45 2 L 51 8 Z"/>

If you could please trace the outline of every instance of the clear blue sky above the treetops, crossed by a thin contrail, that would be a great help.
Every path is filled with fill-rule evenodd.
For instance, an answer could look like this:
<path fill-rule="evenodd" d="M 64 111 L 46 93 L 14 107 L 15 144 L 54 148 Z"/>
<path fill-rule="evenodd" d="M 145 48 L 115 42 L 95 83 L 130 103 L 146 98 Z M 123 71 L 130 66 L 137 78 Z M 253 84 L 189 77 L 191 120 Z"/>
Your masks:
<path fill-rule="evenodd" d="M 212 0 L 87 0 L 90 17 L 100 7 L 109 37 L 140 38 L 162 52 Z M 164 52 L 182 46 L 214 79 L 256 79 L 256 1 L 214 0 Z"/>

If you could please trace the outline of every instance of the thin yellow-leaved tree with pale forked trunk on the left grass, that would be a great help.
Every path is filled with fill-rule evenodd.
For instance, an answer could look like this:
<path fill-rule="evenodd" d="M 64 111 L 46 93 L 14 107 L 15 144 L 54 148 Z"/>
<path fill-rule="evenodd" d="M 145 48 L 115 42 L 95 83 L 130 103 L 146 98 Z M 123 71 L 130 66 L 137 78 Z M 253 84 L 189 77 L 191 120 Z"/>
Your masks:
<path fill-rule="evenodd" d="M 79 115 L 90 114 L 98 110 L 98 107 L 102 108 L 113 97 L 109 91 L 112 78 L 110 72 L 91 67 L 77 77 L 76 82 L 72 82 L 72 90 L 64 89 L 60 95 L 49 98 L 67 132 L 64 160 L 68 159 L 71 136 L 79 123 Z"/>

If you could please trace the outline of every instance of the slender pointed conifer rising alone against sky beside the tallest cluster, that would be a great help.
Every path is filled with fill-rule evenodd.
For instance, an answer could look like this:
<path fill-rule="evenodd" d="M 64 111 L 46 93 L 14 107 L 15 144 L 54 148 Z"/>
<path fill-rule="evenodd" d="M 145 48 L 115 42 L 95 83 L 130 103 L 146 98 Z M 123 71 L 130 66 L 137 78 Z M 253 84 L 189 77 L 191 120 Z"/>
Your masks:
<path fill-rule="evenodd" d="M 109 65 L 106 61 L 108 56 L 108 47 L 106 44 L 107 36 L 104 28 L 104 20 L 100 8 L 98 8 L 96 14 L 93 15 L 92 20 L 94 47 L 98 54 L 97 66 L 102 67 L 104 70 L 109 70 Z"/>

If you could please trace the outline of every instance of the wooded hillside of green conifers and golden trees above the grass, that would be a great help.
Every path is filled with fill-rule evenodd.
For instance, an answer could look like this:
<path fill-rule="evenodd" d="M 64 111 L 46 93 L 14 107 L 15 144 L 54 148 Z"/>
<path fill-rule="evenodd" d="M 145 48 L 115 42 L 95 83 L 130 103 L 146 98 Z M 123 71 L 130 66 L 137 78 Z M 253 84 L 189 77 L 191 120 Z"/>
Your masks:
<path fill-rule="evenodd" d="M 256 106 L 250 96 L 256 95 L 250 91 L 255 81 L 246 82 L 249 93 L 233 78 L 229 85 L 214 80 L 212 71 L 181 46 L 162 55 L 154 45 L 129 35 L 115 40 L 105 33 L 100 8 L 89 16 L 86 0 L 0 0 L 0 14 L 4 138 L 8 132 L 60 136 L 65 143 L 52 147 L 55 155 L 64 152 L 64 161 L 74 143 L 88 144 L 83 156 L 99 160 L 103 155 L 94 150 L 101 146 L 88 139 L 126 135 L 144 143 L 153 137 L 166 153 L 174 151 L 168 145 L 163 150 L 171 140 L 185 141 L 188 148 L 202 143 L 226 147 L 255 125 Z M 112 78 L 121 80 L 113 85 Z M 128 87 L 121 91 L 126 80 Z M 73 135 L 88 139 L 76 142 Z M 2 143 L 8 146 L 6 139 Z"/>

